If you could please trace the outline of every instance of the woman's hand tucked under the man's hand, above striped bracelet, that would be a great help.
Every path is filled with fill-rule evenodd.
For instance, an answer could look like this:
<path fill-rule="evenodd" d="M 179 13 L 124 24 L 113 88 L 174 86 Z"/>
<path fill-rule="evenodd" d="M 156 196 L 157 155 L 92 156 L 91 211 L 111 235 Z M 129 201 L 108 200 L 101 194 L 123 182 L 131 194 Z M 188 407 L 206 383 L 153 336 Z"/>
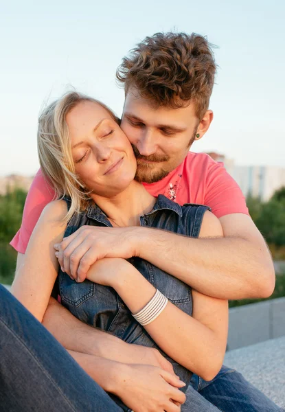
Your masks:
<path fill-rule="evenodd" d="M 133 265 L 122 258 L 104 258 L 92 264 L 87 273 L 87 279 L 114 288 L 120 276 L 133 270 Z"/>

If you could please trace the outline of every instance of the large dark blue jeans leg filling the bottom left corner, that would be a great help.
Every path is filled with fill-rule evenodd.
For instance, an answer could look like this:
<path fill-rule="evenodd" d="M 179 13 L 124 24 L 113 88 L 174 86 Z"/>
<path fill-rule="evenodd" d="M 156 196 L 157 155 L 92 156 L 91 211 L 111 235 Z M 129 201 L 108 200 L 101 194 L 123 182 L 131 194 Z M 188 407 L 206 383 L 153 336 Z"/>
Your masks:
<path fill-rule="evenodd" d="M 0 285 L 0 410 L 122 412 Z"/>

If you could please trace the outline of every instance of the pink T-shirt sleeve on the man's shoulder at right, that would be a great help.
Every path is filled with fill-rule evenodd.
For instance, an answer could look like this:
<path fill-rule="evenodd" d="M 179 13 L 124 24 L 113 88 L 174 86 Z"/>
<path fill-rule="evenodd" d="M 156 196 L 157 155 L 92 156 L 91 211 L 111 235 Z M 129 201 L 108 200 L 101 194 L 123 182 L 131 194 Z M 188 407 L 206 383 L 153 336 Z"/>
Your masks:
<path fill-rule="evenodd" d="M 205 205 L 211 207 L 217 218 L 233 213 L 249 215 L 244 195 L 223 163 L 209 165 L 206 183 Z"/>

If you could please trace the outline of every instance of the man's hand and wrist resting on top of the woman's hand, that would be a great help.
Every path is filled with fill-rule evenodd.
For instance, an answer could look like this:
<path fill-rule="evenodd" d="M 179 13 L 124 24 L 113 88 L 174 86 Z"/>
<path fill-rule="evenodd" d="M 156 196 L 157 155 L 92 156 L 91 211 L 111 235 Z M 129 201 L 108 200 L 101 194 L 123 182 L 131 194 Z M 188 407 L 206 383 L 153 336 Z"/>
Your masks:
<path fill-rule="evenodd" d="M 83 282 L 91 264 L 97 260 L 128 259 L 137 255 L 139 229 L 137 227 L 80 227 L 60 244 L 54 245 L 62 271 L 77 282 Z"/>

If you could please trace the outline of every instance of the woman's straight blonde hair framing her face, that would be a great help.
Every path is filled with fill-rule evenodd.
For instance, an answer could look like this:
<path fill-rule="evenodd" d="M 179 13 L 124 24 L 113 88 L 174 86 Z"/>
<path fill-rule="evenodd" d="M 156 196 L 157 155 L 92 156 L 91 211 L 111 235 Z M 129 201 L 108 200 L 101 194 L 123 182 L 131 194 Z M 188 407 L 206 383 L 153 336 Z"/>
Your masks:
<path fill-rule="evenodd" d="M 66 93 L 62 98 L 49 104 L 38 118 L 38 158 L 43 176 L 54 187 L 56 198 L 71 198 L 71 207 L 65 216 L 66 221 L 70 220 L 75 212 L 80 213 L 86 209 L 90 201 L 90 192 L 75 172 L 66 122 L 67 113 L 80 102 L 100 104 L 115 122 L 119 122 L 105 104 L 75 91 Z"/>

